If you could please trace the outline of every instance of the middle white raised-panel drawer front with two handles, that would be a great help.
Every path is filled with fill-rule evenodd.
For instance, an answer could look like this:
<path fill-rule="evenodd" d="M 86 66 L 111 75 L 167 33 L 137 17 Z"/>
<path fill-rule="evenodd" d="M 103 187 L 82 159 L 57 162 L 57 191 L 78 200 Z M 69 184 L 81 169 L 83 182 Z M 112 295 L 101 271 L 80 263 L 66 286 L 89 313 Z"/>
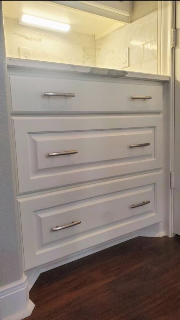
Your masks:
<path fill-rule="evenodd" d="M 14 117 L 19 192 L 162 167 L 162 116 Z"/>

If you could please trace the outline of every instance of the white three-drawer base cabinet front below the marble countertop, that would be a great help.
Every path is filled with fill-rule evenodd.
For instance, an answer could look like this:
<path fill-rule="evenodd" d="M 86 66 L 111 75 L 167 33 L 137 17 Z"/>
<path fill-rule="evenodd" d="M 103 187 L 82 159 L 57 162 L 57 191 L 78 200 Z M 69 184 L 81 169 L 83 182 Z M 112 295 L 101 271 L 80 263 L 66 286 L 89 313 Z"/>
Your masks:
<path fill-rule="evenodd" d="M 9 72 L 25 270 L 162 221 L 162 83 L 53 68 Z"/>

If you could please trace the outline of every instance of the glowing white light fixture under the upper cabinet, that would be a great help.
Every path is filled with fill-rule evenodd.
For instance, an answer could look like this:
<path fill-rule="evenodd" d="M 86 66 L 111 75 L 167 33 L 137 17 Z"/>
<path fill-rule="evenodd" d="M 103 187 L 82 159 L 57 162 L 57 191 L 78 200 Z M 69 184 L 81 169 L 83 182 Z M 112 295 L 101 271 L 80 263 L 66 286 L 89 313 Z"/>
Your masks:
<path fill-rule="evenodd" d="M 24 13 L 22 17 L 19 18 L 19 24 L 57 32 L 67 32 L 70 28 L 70 24 L 38 18 Z"/>

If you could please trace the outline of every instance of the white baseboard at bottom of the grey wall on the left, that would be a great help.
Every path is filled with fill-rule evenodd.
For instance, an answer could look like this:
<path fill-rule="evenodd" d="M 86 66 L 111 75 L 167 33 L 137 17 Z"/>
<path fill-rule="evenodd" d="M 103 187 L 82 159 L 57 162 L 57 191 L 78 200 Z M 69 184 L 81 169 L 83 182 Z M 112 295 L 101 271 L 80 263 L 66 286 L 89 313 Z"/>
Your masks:
<path fill-rule="evenodd" d="M 0 288 L 0 319 L 21 320 L 30 316 L 34 303 L 29 299 L 27 277 Z"/>

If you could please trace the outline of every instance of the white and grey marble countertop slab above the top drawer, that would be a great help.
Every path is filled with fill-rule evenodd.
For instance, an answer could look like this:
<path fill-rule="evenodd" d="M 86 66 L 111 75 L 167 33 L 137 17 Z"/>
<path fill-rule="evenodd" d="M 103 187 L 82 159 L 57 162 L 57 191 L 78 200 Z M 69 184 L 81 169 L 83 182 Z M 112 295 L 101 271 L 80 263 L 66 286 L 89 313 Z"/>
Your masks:
<path fill-rule="evenodd" d="M 7 58 L 7 67 L 8 68 L 36 68 L 43 70 L 53 70 L 56 72 L 71 72 L 75 74 L 85 74 L 93 76 L 105 76 L 113 78 L 127 78 L 127 79 L 139 79 L 139 80 L 148 80 L 148 81 L 169 81 L 169 76 L 154 75 L 141 72 L 132 72 L 125 70 L 115 70 L 108 68 L 95 68 L 95 67 L 86 67 L 78 66 L 64 63 L 56 62 L 46 62 L 38 60 L 27 60 L 27 59 L 18 59 L 18 58 Z"/>

